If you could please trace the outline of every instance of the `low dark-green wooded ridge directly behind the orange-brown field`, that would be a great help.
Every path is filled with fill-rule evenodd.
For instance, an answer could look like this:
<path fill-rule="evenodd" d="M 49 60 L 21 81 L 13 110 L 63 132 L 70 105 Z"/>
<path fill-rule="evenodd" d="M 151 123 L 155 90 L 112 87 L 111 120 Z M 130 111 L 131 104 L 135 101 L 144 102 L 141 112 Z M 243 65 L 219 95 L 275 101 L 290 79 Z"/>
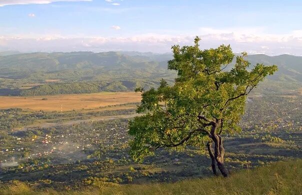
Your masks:
<path fill-rule="evenodd" d="M 35 96 L 35 95 L 55 95 L 55 94 L 74 94 L 74 93 L 97 93 L 101 91 L 133 91 L 134 88 L 142 86 L 144 88 L 156 87 L 155 82 L 136 82 L 129 80 L 113 82 L 69 82 L 53 83 L 34 86 L 29 89 L 19 90 L 16 95 Z"/>

